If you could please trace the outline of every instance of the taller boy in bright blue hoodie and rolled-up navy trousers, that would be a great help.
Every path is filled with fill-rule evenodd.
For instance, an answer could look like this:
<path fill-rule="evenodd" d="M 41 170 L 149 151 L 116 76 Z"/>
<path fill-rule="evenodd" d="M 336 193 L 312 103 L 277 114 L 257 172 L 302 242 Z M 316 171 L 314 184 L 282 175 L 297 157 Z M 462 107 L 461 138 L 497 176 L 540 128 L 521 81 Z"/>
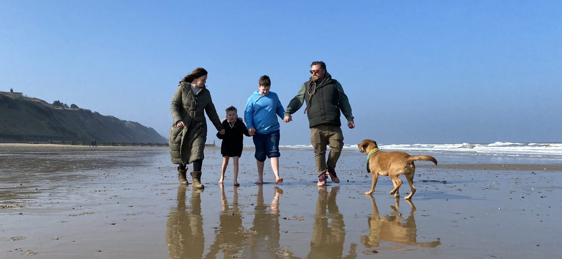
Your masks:
<path fill-rule="evenodd" d="M 253 144 L 256 146 L 257 181 L 264 182 L 264 161 L 268 157 L 271 169 L 275 175 L 275 183 L 282 183 L 279 177 L 279 122 L 277 116 L 283 119 L 285 109 L 275 92 L 269 91 L 271 80 L 269 76 L 260 77 L 258 90 L 248 98 L 244 121 L 248 132 L 253 135 Z M 277 116 L 276 116 L 277 115 Z"/>

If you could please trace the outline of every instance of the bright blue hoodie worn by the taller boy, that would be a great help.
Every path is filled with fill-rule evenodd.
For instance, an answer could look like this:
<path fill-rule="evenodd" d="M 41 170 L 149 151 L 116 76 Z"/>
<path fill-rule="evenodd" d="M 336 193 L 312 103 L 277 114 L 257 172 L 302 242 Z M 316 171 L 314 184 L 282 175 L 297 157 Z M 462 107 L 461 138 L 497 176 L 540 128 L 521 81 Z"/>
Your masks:
<path fill-rule="evenodd" d="M 267 134 L 279 130 L 279 122 L 275 115 L 283 119 L 284 112 L 285 109 L 275 92 L 270 91 L 269 94 L 262 95 L 255 91 L 246 103 L 244 122 L 248 130 L 255 128 L 257 133 Z"/>

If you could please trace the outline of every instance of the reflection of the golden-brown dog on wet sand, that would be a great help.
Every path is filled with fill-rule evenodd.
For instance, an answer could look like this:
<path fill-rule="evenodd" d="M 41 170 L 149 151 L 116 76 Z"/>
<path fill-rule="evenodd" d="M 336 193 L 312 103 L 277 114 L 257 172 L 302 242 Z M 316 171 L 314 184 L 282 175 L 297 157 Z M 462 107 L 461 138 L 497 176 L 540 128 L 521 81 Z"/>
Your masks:
<path fill-rule="evenodd" d="M 416 228 L 416 221 L 414 214 L 416 207 L 414 203 L 406 200 L 410 204 L 410 215 L 406 222 L 402 222 L 402 214 L 398 211 L 400 207 L 400 198 L 396 198 L 396 206 L 390 206 L 392 215 L 379 215 L 377 202 L 373 196 L 368 195 L 373 202 L 373 215 L 369 217 L 369 235 L 361 237 L 361 242 L 367 248 L 379 247 L 381 242 L 393 242 L 397 244 L 405 244 L 406 246 L 415 247 L 437 247 L 441 244 L 439 238 L 433 242 L 418 242 L 418 229 Z M 404 247 L 406 248 L 406 247 Z M 396 247 L 393 249 L 400 249 Z"/>

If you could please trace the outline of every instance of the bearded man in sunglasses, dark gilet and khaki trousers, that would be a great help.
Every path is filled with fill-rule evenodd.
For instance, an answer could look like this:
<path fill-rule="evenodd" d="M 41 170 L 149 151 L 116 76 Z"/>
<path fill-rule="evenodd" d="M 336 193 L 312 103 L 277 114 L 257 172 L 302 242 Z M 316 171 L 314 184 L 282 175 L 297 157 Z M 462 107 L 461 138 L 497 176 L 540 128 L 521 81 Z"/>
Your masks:
<path fill-rule="evenodd" d="M 326 63 L 315 61 L 310 64 L 312 76 L 301 85 L 301 89 L 285 109 L 283 121 L 293 120 L 291 114 L 297 112 L 306 101 L 305 113 L 308 113 L 310 142 L 314 147 L 314 162 L 318 171 L 318 186 L 326 186 L 326 175 L 332 182 L 339 183 L 336 175 L 336 163 L 343 148 L 341 112 L 347 119 L 347 127 L 355 128 L 351 105 L 342 85 L 326 71 Z M 330 146 L 328 161 L 326 146 Z"/>

